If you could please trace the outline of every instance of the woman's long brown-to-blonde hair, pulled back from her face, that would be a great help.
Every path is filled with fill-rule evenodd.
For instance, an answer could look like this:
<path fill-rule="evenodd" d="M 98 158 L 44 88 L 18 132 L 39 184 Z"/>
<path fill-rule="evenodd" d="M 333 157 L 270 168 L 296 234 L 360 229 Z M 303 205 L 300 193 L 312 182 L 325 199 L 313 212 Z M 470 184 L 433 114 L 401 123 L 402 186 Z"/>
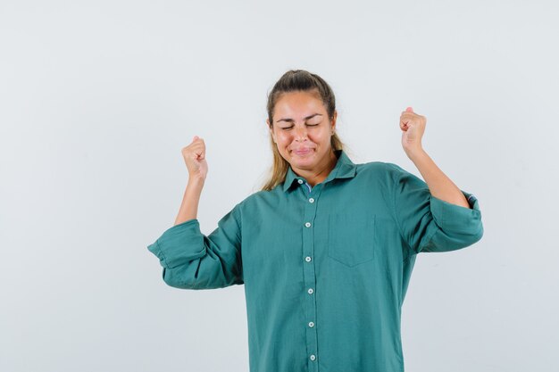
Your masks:
<path fill-rule="evenodd" d="M 271 89 L 270 94 L 268 95 L 268 104 L 266 106 L 266 110 L 268 111 L 270 128 L 273 127 L 273 111 L 276 103 L 280 99 L 280 96 L 284 93 L 294 91 L 311 91 L 319 95 L 322 103 L 324 104 L 324 107 L 326 108 L 326 112 L 328 113 L 330 120 L 333 120 L 334 112 L 336 111 L 336 97 L 330 85 L 320 76 L 309 71 L 288 70 L 276 82 L 276 84 Z M 277 145 L 273 142 L 271 133 L 270 145 L 271 152 L 273 153 L 273 162 L 269 171 L 269 178 L 267 181 L 265 181 L 262 187 L 263 191 L 270 191 L 272 188 L 285 181 L 289 169 L 289 162 L 283 159 L 283 157 L 281 156 L 280 152 L 278 151 Z M 332 136 L 330 136 L 330 145 L 332 146 L 332 151 L 345 150 L 346 148 L 336 131 Z"/>

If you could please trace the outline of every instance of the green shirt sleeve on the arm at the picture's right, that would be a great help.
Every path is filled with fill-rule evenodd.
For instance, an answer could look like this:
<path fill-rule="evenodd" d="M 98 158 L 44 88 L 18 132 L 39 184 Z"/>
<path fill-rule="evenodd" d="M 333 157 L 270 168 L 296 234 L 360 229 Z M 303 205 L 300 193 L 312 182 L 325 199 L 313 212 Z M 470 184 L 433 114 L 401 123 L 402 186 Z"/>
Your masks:
<path fill-rule="evenodd" d="M 480 205 L 472 194 L 461 190 L 470 208 L 447 203 L 432 196 L 423 180 L 393 166 L 396 223 L 412 254 L 455 251 L 481 239 Z"/>

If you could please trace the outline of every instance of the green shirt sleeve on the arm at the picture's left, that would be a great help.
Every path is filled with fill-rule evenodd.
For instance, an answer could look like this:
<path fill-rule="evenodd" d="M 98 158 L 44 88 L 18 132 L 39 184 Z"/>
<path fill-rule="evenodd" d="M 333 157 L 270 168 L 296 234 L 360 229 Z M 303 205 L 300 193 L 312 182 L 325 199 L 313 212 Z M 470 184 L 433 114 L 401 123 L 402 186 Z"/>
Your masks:
<path fill-rule="evenodd" d="M 163 267 L 163 281 L 184 289 L 243 284 L 239 204 L 204 236 L 197 219 L 168 228 L 147 249 Z"/>

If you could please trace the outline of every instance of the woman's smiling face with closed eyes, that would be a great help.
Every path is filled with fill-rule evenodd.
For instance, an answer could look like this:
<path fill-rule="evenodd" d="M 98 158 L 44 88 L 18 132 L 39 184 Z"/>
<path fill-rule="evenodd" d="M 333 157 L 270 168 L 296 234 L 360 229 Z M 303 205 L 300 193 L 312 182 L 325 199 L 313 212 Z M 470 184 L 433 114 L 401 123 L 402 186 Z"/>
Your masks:
<path fill-rule="evenodd" d="M 330 162 L 330 136 L 338 112 L 330 122 L 317 95 L 305 91 L 284 93 L 273 112 L 273 141 L 294 171 L 313 171 Z M 266 120 L 270 127 L 270 120 Z"/>

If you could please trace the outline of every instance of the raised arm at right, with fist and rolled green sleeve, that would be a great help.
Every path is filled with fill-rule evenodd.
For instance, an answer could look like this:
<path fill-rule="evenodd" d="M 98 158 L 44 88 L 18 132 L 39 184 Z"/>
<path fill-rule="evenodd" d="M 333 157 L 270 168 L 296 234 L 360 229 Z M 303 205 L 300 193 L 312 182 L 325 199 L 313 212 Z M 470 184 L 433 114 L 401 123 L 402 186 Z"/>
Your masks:
<path fill-rule="evenodd" d="M 425 181 L 392 164 L 393 206 L 400 233 L 412 254 L 447 252 L 483 236 L 480 205 L 438 169 L 421 147 L 424 116 L 408 107 L 400 117 L 402 145 Z"/>

